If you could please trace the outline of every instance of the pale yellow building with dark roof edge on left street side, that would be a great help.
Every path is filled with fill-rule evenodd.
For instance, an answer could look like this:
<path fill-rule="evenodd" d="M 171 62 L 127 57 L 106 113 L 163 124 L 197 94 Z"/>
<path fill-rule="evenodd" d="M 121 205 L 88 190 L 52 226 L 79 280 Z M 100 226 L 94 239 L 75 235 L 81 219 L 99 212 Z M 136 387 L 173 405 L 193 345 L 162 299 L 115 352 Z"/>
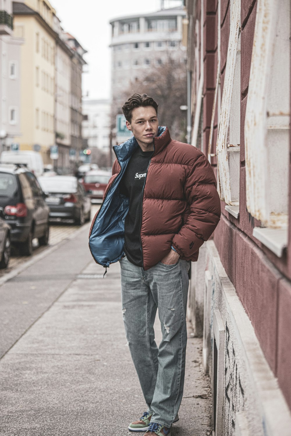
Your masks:
<path fill-rule="evenodd" d="M 51 163 L 55 143 L 55 10 L 47 0 L 14 3 L 14 28 L 24 37 L 21 47 L 21 150 L 41 151 Z"/>

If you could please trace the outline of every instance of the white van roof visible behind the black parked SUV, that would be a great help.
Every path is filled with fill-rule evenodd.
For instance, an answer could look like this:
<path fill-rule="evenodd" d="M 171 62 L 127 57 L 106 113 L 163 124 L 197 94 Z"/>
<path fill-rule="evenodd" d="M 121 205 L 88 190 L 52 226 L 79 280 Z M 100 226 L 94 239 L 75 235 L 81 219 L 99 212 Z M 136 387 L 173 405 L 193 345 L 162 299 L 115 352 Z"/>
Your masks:
<path fill-rule="evenodd" d="M 1 164 L 26 164 L 36 177 L 44 172 L 44 163 L 40 153 L 30 150 L 2 151 Z"/>

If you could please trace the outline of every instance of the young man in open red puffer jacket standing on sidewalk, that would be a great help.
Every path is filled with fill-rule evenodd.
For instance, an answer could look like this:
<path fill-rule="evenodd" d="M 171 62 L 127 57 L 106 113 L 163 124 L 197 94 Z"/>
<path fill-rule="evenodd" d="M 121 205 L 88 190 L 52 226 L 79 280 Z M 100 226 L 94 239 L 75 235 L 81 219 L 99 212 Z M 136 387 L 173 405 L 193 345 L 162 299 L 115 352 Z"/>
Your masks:
<path fill-rule="evenodd" d="M 204 154 L 159 127 L 157 103 L 123 105 L 133 137 L 114 146 L 113 176 L 89 246 L 104 267 L 120 260 L 123 320 L 147 411 L 129 430 L 170 436 L 185 374 L 189 261 L 218 224 L 216 179 Z M 157 307 L 162 341 L 154 341 Z"/>

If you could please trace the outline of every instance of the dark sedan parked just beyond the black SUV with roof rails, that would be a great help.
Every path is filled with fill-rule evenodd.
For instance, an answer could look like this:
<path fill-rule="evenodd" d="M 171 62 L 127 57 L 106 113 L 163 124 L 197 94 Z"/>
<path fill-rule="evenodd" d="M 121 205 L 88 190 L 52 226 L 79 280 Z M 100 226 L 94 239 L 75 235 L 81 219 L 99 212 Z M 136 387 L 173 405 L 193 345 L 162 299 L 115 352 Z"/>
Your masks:
<path fill-rule="evenodd" d="M 91 202 L 76 177 L 39 177 L 38 181 L 47 194 L 45 201 L 49 206 L 51 219 L 69 218 L 79 225 L 89 221 Z"/>

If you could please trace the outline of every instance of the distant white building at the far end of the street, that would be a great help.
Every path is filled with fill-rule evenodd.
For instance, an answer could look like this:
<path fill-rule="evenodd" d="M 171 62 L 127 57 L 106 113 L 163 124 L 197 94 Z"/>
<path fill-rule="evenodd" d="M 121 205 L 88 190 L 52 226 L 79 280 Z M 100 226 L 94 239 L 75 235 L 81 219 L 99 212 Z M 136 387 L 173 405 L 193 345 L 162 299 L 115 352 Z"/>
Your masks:
<path fill-rule="evenodd" d="M 98 148 L 103 153 L 110 151 L 110 101 L 83 99 L 83 138 L 89 149 Z"/>

